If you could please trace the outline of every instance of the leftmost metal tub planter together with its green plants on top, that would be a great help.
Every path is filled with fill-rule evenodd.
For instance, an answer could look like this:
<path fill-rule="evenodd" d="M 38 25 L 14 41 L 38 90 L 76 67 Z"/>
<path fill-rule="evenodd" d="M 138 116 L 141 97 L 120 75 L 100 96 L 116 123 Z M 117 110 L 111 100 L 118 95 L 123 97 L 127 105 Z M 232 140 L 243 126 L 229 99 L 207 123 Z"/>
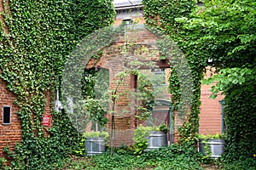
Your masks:
<path fill-rule="evenodd" d="M 102 154 L 108 145 L 108 132 L 86 132 L 83 134 L 84 148 L 87 156 Z"/>

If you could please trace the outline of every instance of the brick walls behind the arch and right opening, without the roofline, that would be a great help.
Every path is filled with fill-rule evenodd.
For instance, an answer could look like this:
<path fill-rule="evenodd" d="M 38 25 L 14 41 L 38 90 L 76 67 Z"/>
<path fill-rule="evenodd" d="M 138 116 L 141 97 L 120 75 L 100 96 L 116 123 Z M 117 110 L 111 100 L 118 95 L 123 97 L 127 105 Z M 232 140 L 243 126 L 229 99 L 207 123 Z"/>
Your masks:
<path fill-rule="evenodd" d="M 127 54 L 122 54 L 122 49 L 125 44 L 125 40 L 129 42 L 133 41 L 134 47 L 131 49 L 129 43 L 126 43 Z M 130 41 L 130 42 L 131 42 Z M 100 65 L 102 68 L 107 68 L 109 70 L 110 79 L 110 89 L 116 88 L 116 81 L 118 80 L 115 75 L 119 71 L 124 71 L 125 66 L 129 67 L 129 61 L 134 59 L 144 59 L 155 61 L 158 65 L 160 62 L 156 62 L 159 57 L 159 51 L 156 48 L 154 42 L 156 42 L 156 37 L 150 31 L 145 29 L 140 29 L 135 32 L 126 32 L 126 39 L 124 37 L 119 37 L 118 42 L 114 42 L 110 47 L 103 50 L 102 59 L 97 63 L 96 60 L 90 60 L 90 66 Z M 128 44 L 128 45 L 127 45 Z M 142 50 L 143 49 L 143 50 Z M 163 64 L 162 68 L 166 68 L 166 63 Z M 88 67 L 88 65 L 87 65 Z M 169 76 L 169 71 L 166 70 L 166 76 Z M 207 71 L 209 76 L 211 71 Z M 168 77 L 166 77 L 167 80 Z M 122 94 L 115 105 L 115 145 L 119 144 L 132 144 L 132 136 L 135 128 L 134 119 L 134 108 L 129 106 L 128 103 L 132 102 L 129 97 L 129 91 L 134 87 L 134 80 L 131 77 L 126 77 L 123 84 L 118 88 L 118 94 Z M 201 115 L 200 115 L 200 133 L 221 133 L 221 105 L 219 100 L 224 99 L 224 96 L 218 94 L 217 99 L 209 99 L 211 92 L 209 91 L 210 86 L 203 85 L 201 88 Z M 169 95 L 170 97 L 170 95 Z M 122 112 L 126 110 L 128 112 Z M 155 119 L 160 119 L 165 121 L 166 113 L 155 114 Z M 174 113 L 175 114 L 175 113 Z M 163 117 L 164 116 L 164 117 Z M 111 116 L 108 120 L 108 129 L 111 127 Z M 183 120 L 175 114 L 175 125 L 174 125 L 174 139 L 177 142 L 177 126 L 181 126 Z M 145 124 L 145 123 L 144 123 Z"/>

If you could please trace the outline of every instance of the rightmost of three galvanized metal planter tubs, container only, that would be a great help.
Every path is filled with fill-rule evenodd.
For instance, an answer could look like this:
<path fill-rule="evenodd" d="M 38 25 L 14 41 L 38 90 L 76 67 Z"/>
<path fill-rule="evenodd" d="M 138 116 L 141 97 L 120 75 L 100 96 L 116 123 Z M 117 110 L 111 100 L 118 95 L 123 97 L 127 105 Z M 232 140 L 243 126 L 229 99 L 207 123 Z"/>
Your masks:
<path fill-rule="evenodd" d="M 212 153 L 211 157 L 218 158 L 224 152 L 225 141 L 224 139 L 207 139 L 207 140 L 200 139 L 199 151 L 202 154 L 207 155 L 205 150 L 205 145 L 207 146 L 207 149 Z"/>

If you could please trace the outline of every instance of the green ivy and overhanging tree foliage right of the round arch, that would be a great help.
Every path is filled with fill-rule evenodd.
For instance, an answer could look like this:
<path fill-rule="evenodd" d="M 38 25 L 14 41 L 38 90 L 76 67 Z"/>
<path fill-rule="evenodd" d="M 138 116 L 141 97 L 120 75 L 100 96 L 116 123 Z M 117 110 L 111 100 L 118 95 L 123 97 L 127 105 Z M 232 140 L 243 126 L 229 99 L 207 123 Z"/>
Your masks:
<path fill-rule="evenodd" d="M 196 8 L 194 1 L 143 2 L 147 23 L 166 31 L 177 42 L 192 71 L 195 98 L 188 122 L 179 129 L 182 141 L 191 141 L 198 129 L 202 73 L 211 65 L 221 70 L 212 79 L 219 81 L 212 91 L 225 94 L 226 158 L 235 161 L 252 157 L 256 148 L 255 2 L 206 0 Z M 208 59 L 212 62 L 207 63 Z M 176 104 L 180 88 L 176 77 L 171 81 Z"/>

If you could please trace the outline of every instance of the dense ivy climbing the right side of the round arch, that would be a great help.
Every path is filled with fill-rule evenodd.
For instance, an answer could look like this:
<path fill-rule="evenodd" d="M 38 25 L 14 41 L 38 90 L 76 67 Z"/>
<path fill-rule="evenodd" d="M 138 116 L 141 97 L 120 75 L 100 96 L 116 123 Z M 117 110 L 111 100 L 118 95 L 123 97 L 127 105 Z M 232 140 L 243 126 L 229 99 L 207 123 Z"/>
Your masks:
<path fill-rule="evenodd" d="M 187 41 L 190 40 L 191 36 L 189 36 L 188 32 L 183 31 L 183 23 L 178 22 L 176 19 L 182 17 L 189 18 L 191 11 L 195 8 L 196 1 L 177 0 L 173 3 L 173 1 L 170 0 L 143 0 L 143 4 L 144 16 L 147 24 L 166 32 L 167 35 L 171 37 L 172 41 L 177 42 L 178 47 L 185 53 L 186 59 L 188 60 L 191 75 L 187 75 L 185 69 L 183 69 L 183 72 L 181 71 L 181 73 L 178 73 L 178 70 L 175 69 L 175 66 L 171 63 L 172 73 L 169 82 L 173 111 L 178 111 L 179 107 L 182 107 L 183 105 L 180 100 L 183 95 L 180 83 L 183 80 L 181 78 L 186 75 L 186 78 L 192 78 L 193 80 L 193 97 L 191 101 L 189 101 L 190 111 L 189 113 L 181 113 L 181 115 L 188 115 L 188 118 L 178 130 L 182 137 L 180 142 L 190 141 L 191 144 L 195 144 L 196 141 L 194 140 L 194 137 L 199 127 L 201 79 L 203 77 L 202 73 L 206 66 L 207 59 L 201 58 L 201 53 L 198 51 L 195 52 L 195 48 L 187 44 Z M 191 86 L 191 84 L 189 84 L 189 86 Z"/>

